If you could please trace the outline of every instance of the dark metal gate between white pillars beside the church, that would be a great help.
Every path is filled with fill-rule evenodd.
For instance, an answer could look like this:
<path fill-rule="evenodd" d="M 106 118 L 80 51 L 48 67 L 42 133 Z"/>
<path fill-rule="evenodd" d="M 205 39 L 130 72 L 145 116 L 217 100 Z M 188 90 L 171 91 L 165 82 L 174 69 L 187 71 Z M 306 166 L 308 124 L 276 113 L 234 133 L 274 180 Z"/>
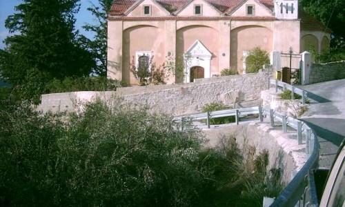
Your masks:
<path fill-rule="evenodd" d="M 293 53 L 293 48 L 288 53 L 281 55 L 282 81 L 288 84 L 301 84 L 301 55 Z"/>

